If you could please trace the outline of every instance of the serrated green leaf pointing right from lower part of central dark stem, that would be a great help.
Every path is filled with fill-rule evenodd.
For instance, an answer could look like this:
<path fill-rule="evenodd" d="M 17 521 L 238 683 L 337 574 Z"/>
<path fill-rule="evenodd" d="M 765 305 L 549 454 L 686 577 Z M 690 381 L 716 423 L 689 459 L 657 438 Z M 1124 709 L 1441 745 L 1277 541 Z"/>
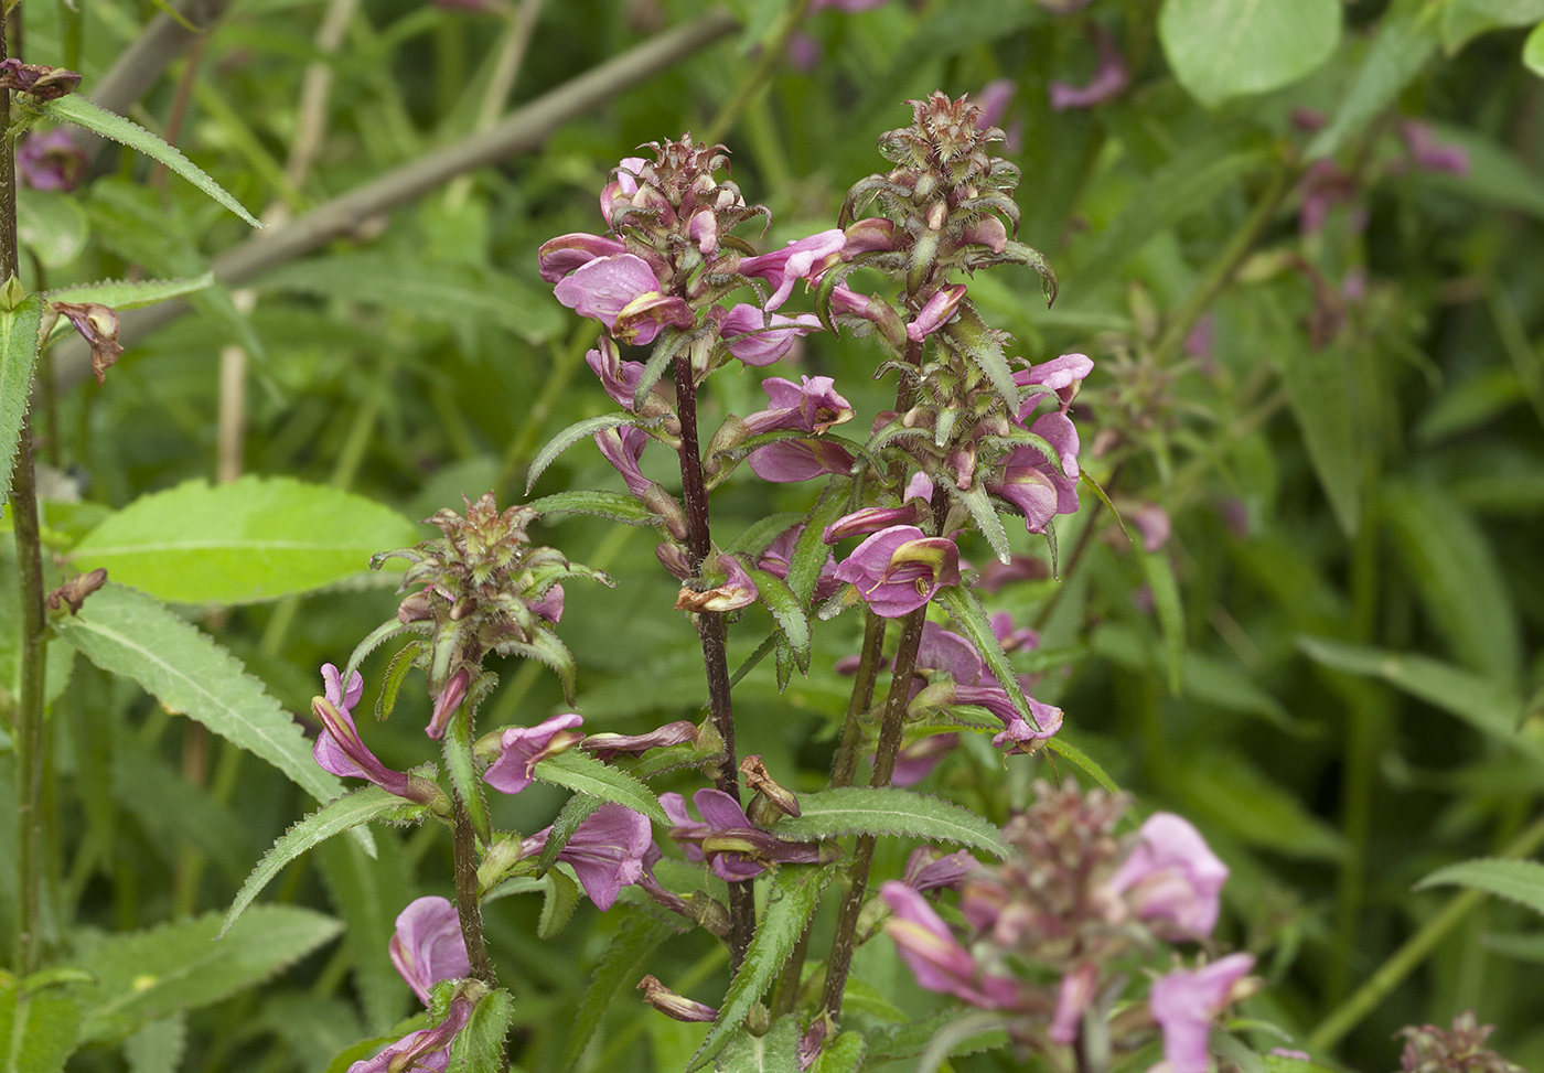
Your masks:
<path fill-rule="evenodd" d="M 994 824 L 967 807 L 894 787 L 851 786 L 800 794 L 800 815 L 778 821 L 781 838 L 832 838 L 846 834 L 909 835 L 953 841 L 1005 858 L 1007 846 Z"/>

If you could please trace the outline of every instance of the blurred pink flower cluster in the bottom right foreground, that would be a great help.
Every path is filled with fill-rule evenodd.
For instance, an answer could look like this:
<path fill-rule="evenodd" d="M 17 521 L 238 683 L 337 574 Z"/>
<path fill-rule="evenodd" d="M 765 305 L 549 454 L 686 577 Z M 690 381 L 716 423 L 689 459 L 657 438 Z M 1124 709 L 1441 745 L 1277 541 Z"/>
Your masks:
<path fill-rule="evenodd" d="M 1152 983 L 1146 1016 L 1112 1019 L 1112 1007 L 1127 965 L 1149 960 L 1160 940 L 1209 939 L 1226 865 L 1181 817 L 1155 814 L 1118 838 L 1122 797 L 1045 783 L 1036 790 L 1036 804 L 1004 829 L 1014 851 L 1007 861 L 956 871 L 939 885 L 960 891 L 965 942 L 919 885 L 883 886 L 894 912 L 885 929 L 900 956 L 922 987 L 1004 1011 L 1028 1047 L 1072 1045 L 1089 1019 L 1109 1021 L 1102 1031 L 1118 1048 L 1141 1045 L 1156 1027 L 1170 1073 L 1206 1073 L 1214 1019 L 1252 993 L 1251 956 L 1172 968 Z M 1058 982 L 1038 983 L 1022 965 Z"/>

